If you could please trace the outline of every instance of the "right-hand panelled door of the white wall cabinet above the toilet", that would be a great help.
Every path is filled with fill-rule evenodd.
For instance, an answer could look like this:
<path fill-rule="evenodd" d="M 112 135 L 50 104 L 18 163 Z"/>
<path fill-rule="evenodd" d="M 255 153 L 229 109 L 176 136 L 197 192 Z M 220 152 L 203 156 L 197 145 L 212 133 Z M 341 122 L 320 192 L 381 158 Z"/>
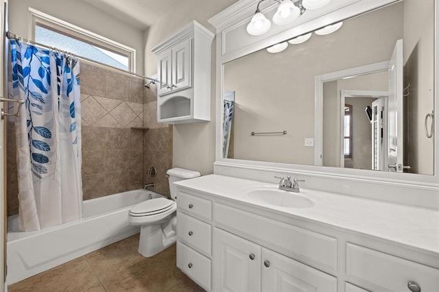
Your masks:
<path fill-rule="evenodd" d="M 172 90 L 191 86 L 191 39 L 172 48 Z"/>

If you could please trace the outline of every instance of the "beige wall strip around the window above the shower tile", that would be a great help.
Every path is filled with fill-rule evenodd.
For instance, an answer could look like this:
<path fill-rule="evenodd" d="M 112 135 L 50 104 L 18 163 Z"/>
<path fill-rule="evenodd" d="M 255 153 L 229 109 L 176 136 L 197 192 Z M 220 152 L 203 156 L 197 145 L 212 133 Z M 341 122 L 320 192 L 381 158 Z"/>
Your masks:
<path fill-rule="evenodd" d="M 10 0 L 10 31 L 23 38 L 29 38 L 29 7 L 136 49 L 136 72 L 143 74 L 144 32 L 137 27 L 82 0 Z"/>

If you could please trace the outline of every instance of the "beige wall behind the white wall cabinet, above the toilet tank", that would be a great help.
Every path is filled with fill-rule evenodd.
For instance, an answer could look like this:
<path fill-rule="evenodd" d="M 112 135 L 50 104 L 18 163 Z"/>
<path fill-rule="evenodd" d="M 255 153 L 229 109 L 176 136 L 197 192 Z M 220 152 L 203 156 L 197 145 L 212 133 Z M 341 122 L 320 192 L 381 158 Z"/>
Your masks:
<path fill-rule="evenodd" d="M 200 24 L 215 32 L 207 20 L 224 10 L 236 0 L 222 1 L 181 1 L 176 7 L 163 16 L 148 31 L 145 46 L 145 73 L 157 73 L 156 56 L 150 50 L 171 34 L 195 19 Z M 184 3 L 183 3 L 184 2 Z M 215 161 L 215 40 L 212 43 L 212 74 L 211 74 L 211 121 L 174 125 L 173 136 L 173 167 L 182 167 L 200 171 L 202 175 L 213 173 Z"/>

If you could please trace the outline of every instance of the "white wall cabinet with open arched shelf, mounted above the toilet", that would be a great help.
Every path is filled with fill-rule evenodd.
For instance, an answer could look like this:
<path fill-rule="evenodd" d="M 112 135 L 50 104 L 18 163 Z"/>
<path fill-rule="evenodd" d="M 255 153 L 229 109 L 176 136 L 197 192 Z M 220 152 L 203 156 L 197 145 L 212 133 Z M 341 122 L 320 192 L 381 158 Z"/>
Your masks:
<path fill-rule="evenodd" d="M 210 121 L 213 38 L 213 33 L 192 21 L 152 49 L 158 59 L 159 123 Z"/>

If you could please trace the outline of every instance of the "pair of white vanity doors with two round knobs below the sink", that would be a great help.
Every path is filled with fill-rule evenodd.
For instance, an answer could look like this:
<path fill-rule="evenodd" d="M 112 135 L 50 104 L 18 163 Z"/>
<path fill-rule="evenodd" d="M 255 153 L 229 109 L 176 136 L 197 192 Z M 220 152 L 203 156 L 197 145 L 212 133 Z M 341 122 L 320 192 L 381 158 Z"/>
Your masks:
<path fill-rule="evenodd" d="M 337 278 L 219 228 L 213 232 L 214 291 L 337 291 Z"/>

